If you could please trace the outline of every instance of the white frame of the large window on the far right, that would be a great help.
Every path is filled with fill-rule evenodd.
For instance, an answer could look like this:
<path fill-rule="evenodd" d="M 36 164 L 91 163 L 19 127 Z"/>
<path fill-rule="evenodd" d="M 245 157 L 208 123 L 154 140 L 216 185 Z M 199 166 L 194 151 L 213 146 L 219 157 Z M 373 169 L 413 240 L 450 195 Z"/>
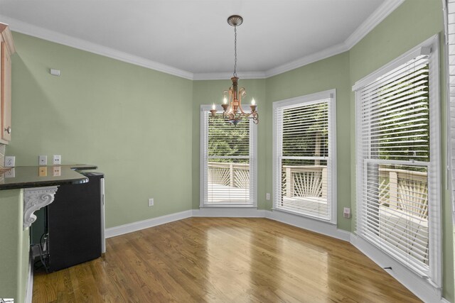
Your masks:
<path fill-rule="evenodd" d="M 431 51 L 431 53 L 429 53 Z M 428 204 L 429 204 L 429 272 L 428 275 L 423 275 L 420 272 L 415 272 L 410 269 L 412 274 L 417 275 L 426 279 L 431 285 L 436 287 L 441 287 L 442 283 L 442 268 L 441 268 L 441 147 L 440 147 L 440 138 L 441 138 L 441 119 L 440 119 L 440 98 L 439 98 L 439 36 L 434 35 L 431 38 L 425 40 L 423 43 L 417 45 L 412 50 L 409 50 L 407 53 L 397 57 L 397 59 L 392 60 L 387 65 L 381 67 L 370 75 L 360 79 L 358 82 L 355 82 L 353 86 L 353 92 L 355 92 L 355 140 L 356 140 L 356 150 L 355 150 L 355 165 L 356 165 L 356 207 L 357 207 L 357 220 L 355 226 L 355 233 L 361 236 L 361 231 L 358 229 L 360 226 L 360 221 L 363 217 L 362 205 L 363 201 L 361 197 L 363 191 L 363 180 L 362 180 L 362 169 L 363 169 L 363 152 L 362 152 L 362 140 L 360 138 L 360 129 L 361 123 L 358 121 L 360 116 L 360 97 L 359 90 L 370 82 L 375 81 L 378 77 L 381 77 L 387 72 L 394 70 L 396 67 L 405 64 L 409 60 L 412 60 L 414 57 L 417 57 L 420 54 L 429 53 L 429 118 L 430 118 L 430 162 L 428 162 Z M 404 165 L 412 165 L 412 161 L 402 161 Z M 435 186 L 430 185 L 430 179 Z M 368 241 L 368 239 L 365 239 Z M 368 241 L 369 242 L 369 241 Z M 378 248 L 379 249 L 379 248 Z M 391 253 L 387 253 L 391 258 L 395 258 Z M 398 258 L 395 258 L 397 262 L 400 263 Z M 402 263 L 403 264 L 403 263 Z M 404 264 L 403 264 L 404 265 Z M 405 265 L 406 266 L 406 265 Z"/>

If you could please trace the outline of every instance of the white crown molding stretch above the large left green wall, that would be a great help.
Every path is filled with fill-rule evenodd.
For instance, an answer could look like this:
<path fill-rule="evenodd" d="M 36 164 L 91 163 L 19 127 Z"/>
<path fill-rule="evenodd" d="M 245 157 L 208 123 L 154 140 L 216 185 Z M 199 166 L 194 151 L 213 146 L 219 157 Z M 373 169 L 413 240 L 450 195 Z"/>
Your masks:
<path fill-rule="evenodd" d="M 168 65 L 161 64 L 159 62 L 154 62 L 152 60 L 145 59 L 136 55 L 131 55 L 129 53 L 124 53 L 120 50 L 114 50 L 113 48 L 107 48 L 105 46 L 99 45 L 97 43 L 92 43 L 87 40 L 82 40 L 79 38 L 74 38 L 70 35 L 64 35 L 56 31 L 50 31 L 39 26 L 33 26 L 29 23 L 19 21 L 14 18 L 9 18 L 7 16 L 0 15 L 0 19 L 4 23 L 8 23 L 11 31 L 16 31 L 18 33 L 23 33 L 26 35 L 31 35 L 36 38 L 41 38 L 48 40 L 54 43 L 59 43 L 63 45 L 70 46 L 72 48 L 77 48 L 79 50 L 85 50 L 90 53 L 95 53 L 97 55 L 102 55 L 105 57 L 110 57 L 112 59 L 120 60 L 123 62 L 131 63 L 134 65 L 139 65 L 141 67 L 146 67 L 151 70 L 157 70 L 159 72 L 165 72 L 166 74 L 174 75 L 177 77 L 182 77 L 185 79 L 193 79 L 193 73 L 187 72 L 186 70 L 180 70 L 176 67 L 171 67 Z"/>

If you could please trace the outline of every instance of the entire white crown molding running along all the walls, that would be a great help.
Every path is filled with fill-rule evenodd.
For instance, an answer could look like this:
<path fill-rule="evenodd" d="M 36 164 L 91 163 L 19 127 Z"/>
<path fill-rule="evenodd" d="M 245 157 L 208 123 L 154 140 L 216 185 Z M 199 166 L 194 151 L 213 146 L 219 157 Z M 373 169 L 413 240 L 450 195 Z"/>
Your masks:
<path fill-rule="evenodd" d="M 331 48 L 326 48 L 321 50 L 318 53 L 307 55 L 301 57 L 297 60 L 285 63 L 284 65 L 279 65 L 273 67 L 270 70 L 265 72 L 239 72 L 241 79 L 265 79 L 267 77 L 272 77 L 275 75 L 282 74 L 283 72 L 288 72 L 289 70 L 295 70 L 298 67 L 304 65 L 309 65 L 310 63 L 326 59 L 333 55 L 338 55 L 344 53 L 350 48 L 352 48 L 356 43 L 358 43 L 365 35 L 370 33 L 370 31 L 375 28 L 382 20 L 384 20 L 392 11 L 397 9 L 405 0 L 385 0 L 378 9 L 376 9 L 358 28 L 343 42 L 338 45 L 334 45 Z M 157 70 L 159 72 L 165 72 L 170 75 L 177 77 L 182 77 L 185 79 L 191 80 L 219 80 L 219 79 L 229 79 L 232 74 L 230 72 L 199 72 L 193 73 L 186 70 L 180 70 L 176 67 L 171 67 L 169 65 L 164 65 L 159 62 L 154 62 L 152 60 L 145 59 L 144 57 L 139 57 L 136 55 L 131 55 L 129 53 L 124 53 L 119 50 L 114 50 L 113 48 L 107 48 L 105 46 L 99 45 L 97 43 L 91 43 L 87 40 L 82 40 L 79 38 L 74 38 L 70 35 L 64 35 L 56 31 L 50 31 L 39 26 L 33 26 L 29 23 L 23 21 L 18 21 L 15 18 L 9 18 L 7 16 L 0 15 L 0 20 L 5 23 L 9 23 L 9 26 L 12 31 L 18 33 L 23 33 L 26 35 L 32 35 L 37 38 L 44 40 L 49 40 L 51 42 L 63 44 L 70 46 L 72 48 L 77 48 L 80 50 L 85 50 L 90 53 L 95 53 L 97 55 L 102 55 L 105 57 L 111 57 L 112 59 L 120 60 L 123 62 L 128 62 L 134 65 L 139 65 L 141 67 L 146 67 L 151 70 Z"/>

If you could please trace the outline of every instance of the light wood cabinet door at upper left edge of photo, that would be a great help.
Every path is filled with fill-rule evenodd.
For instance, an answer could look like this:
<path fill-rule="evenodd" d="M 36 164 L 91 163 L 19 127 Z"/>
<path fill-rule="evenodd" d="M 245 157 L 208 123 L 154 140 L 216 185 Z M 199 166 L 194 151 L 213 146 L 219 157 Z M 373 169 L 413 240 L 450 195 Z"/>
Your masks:
<path fill-rule="evenodd" d="M 11 57 L 6 43 L 1 43 L 1 138 L 11 140 Z"/>

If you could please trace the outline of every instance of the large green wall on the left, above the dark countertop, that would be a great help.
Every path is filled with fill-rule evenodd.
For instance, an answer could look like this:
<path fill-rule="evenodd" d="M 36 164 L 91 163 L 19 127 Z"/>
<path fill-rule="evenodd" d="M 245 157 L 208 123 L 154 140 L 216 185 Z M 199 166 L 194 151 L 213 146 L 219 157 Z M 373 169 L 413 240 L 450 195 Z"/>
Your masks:
<path fill-rule="evenodd" d="M 20 33 L 14 43 L 16 165 L 54 154 L 98 165 L 108 228 L 191 209 L 191 80 Z"/>

